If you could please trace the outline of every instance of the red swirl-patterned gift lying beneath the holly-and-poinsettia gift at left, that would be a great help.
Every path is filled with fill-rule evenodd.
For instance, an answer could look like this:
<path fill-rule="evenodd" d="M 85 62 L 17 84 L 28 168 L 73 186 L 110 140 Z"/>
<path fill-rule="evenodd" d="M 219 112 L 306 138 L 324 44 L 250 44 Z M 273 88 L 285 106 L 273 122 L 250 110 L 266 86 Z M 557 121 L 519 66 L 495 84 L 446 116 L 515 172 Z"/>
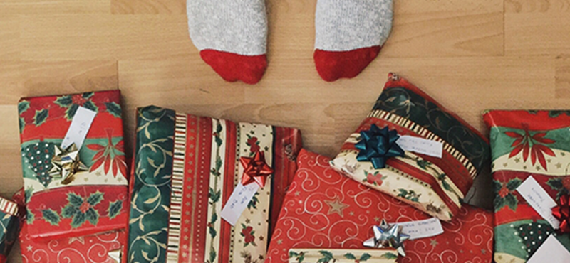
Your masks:
<path fill-rule="evenodd" d="M 24 207 L 24 189 L 14 194 L 21 208 Z M 20 250 L 23 263 L 124 263 L 123 250 L 126 247 L 126 224 L 122 230 L 88 235 L 67 237 L 58 240 L 33 240 L 28 234 L 26 214 L 20 216 Z"/>

